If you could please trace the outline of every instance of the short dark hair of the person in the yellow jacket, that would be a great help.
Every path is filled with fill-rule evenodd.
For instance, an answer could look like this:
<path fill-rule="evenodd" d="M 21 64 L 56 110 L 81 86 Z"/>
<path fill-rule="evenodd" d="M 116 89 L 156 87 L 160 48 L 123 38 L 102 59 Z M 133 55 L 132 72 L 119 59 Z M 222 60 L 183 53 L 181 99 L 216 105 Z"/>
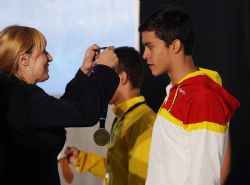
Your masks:
<path fill-rule="evenodd" d="M 115 49 L 118 57 L 116 72 L 125 71 L 133 88 L 140 88 L 143 78 L 143 61 L 137 50 L 133 47 L 118 47 Z"/>

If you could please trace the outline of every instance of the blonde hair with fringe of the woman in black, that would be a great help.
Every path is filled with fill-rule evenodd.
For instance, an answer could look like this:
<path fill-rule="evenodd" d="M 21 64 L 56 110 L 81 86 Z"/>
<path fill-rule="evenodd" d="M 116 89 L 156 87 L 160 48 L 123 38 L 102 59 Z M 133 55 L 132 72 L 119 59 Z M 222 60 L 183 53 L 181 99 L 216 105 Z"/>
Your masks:
<path fill-rule="evenodd" d="M 13 74 L 22 53 L 42 53 L 46 47 L 44 35 L 35 28 L 13 25 L 0 32 L 0 70 Z"/>

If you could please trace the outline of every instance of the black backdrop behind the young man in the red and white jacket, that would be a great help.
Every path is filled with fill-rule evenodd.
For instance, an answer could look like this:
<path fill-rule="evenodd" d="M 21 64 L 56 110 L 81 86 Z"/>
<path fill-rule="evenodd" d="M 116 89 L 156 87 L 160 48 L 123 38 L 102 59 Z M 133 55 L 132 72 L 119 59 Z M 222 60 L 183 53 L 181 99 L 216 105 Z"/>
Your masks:
<path fill-rule="evenodd" d="M 178 5 L 189 13 L 198 32 L 195 64 L 218 71 L 223 86 L 240 101 L 230 125 L 232 169 L 226 184 L 249 185 L 250 0 L 141 0 L 140 20 L 162 4 Z M 156 112 L 168 83 L 167 76 L 153 77 L 146 67 L 141 93 Z"/>

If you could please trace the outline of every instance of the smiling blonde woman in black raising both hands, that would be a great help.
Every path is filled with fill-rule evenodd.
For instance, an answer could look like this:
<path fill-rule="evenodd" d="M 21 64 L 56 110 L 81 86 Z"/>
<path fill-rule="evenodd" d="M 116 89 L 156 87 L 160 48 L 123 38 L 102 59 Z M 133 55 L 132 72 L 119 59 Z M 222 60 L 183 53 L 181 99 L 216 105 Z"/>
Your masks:
<path fill-rule="evenodd" d="M 64 128 L 96 124 L 119 83 L 112 69 L 118 63 L 114 48 L 101 54 L 98 48 L 94 44 L 87 49 L 82 66 L 58 100 L 36 85 L 48 80 L 53 60 L 44 35 L 16 25 L 0 32 L 0 75 L 4 78 L 1 181 L 9 185 L 60 184 L 57 155 L 65 142 Z"/>

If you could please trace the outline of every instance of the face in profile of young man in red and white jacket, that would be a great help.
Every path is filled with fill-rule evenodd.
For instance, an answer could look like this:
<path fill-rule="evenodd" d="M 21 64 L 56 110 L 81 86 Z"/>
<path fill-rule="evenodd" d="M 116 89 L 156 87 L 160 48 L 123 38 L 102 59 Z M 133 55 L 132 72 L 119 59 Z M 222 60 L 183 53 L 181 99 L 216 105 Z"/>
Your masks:
<path fill-rule="evenodd" d="M 143 59 L 154 76 L 167 74 L 170 67 L 169 48 L 165 42 L 159 39 L 154 31 L 142 32 L 142 43 L 145 47 Z"/>

